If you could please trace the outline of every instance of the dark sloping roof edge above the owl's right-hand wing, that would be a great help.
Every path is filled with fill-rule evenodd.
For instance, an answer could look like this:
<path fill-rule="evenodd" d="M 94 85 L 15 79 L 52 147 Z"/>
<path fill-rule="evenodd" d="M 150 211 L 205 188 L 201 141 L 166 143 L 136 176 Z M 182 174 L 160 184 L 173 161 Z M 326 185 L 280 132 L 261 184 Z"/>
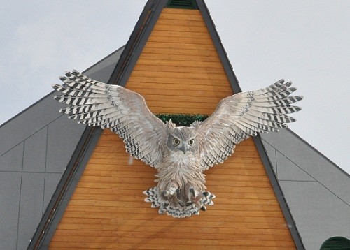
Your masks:
<path fill-rule="evenodd" d="M 241 92 L 241 87 L 239 87 L 239 82 L 237 80 L 235 72 L 233 71 L 232 64 L 228 59 L 228 54 L 226 53 L 225 48 L 223 47 L 223 43 L 221 43 L 221 38 L 218 35 L 218 31 L 216 31 L 216 26 L 214 24 L 213 19 L 210 16 L 209 9 L 207 8 L 207 5 L 205 4 L 204 0 L 196 0 L 196 2 L 204 18 L 204 22 L 207 25 L 209 34 L 211 36 L 211 39 L 213 40 L 214 46 L 216 47 L 218 56 L 221 59 L 221 63 L 223 64 L 223 68 L 225 69 L 226 75 L 228 76 L 228 80 L 230 81 L 231 87 L 235 94 L 239 93 Z"/>

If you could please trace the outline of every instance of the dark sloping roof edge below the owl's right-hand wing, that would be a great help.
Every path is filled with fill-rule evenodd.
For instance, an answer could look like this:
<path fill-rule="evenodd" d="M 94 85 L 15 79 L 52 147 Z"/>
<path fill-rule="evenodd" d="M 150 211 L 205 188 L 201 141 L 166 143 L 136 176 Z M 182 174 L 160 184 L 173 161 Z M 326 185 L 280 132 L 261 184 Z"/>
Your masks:
<path fill-rule="evenodd" d="M 276 198 L 279 201 L 279 205 L 281 206 L 283 216 L 286 219 L 288 228 L 290 230 L 290 234 L 292 235 L 293 240 L 295 242 L 295 246 L 297 247 L 297 249 L 305 249 L 304 244 L 302 243 L 302 237 L 300 236 L 300 233 L 297 230 L 297 226 L 295 224 L 292 214 L 290 213 L 290 209 L 288 207 L 288 203 L 286 202 L 286 199 L 284 198 L 284 194 L 281 189 L 281 186 L 279 186 L 277 177 L 274 174 L 274 170 L 272 169 L 272 163 L 271 161 L 269 161 L 269 157 L 267 156 L 266 149 L 262 144 L 262 138 L 258 134 L 255 137 L 253 137 L 253 140 L 260 154 L 260 158 L 267 172 L 267 176 L 269 177 L 269 181 L 272 184 L 272 188 L 274 189 L 274 193 L 276 194 Z"/>

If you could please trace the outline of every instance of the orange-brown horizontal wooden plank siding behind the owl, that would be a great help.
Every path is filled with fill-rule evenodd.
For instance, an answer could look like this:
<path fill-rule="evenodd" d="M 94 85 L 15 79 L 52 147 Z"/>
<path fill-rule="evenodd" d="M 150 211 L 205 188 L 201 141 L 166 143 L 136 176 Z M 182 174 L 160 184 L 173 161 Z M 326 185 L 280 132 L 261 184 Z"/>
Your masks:
<path fill-rule="evenodd" d="M 126 87 L 156 113 L 211 114 L 233 94 L 200 11 L 174 8 L 162 11 Z M 186 219 L 144 202 L 156 171 L 129 161 L 104 131 L 50 249 L 295 249 L 253 140 L 206 172 L 215 205 Z"/>

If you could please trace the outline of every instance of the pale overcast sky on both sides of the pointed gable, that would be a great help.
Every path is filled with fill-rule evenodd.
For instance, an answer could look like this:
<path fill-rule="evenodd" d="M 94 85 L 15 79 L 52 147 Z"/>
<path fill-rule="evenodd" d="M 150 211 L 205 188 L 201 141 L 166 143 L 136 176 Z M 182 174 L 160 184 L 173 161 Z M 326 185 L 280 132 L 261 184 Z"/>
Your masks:
<path fill-rule="evenodd" d="M 1 1 L 0 124 L 124 45 L 146 0 Z M 350 1 L 207 0 L 243 91 L 303 95 L 290 128 L 350 172 Z"/>

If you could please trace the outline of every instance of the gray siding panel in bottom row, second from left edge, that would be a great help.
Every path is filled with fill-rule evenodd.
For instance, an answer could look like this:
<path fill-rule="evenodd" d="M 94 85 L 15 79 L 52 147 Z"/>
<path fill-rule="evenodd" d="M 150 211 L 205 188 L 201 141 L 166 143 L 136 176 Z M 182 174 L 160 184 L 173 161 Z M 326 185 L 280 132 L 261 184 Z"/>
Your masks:
<path fill-rule="evenodd" d="M 18 249 L 26 249 L 43 215 L 44 173 L 24 172 L 20 195 Z"/>

